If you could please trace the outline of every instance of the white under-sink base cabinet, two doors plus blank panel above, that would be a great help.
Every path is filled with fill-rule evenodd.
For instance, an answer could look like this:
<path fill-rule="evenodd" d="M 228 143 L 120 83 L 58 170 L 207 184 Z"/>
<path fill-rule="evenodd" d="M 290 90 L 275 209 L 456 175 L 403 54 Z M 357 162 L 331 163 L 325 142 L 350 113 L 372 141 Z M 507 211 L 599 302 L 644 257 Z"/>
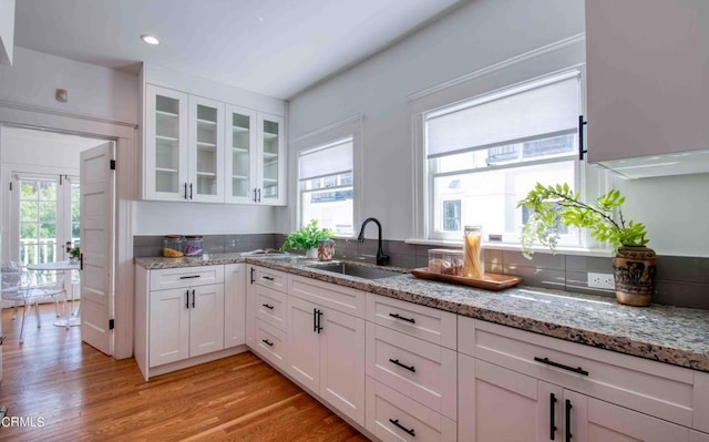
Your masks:
<path fill-rule="evenodd" d="M 362 426 L 363 316 L 363 292 L 290 278 L 288 374 Z"/>

